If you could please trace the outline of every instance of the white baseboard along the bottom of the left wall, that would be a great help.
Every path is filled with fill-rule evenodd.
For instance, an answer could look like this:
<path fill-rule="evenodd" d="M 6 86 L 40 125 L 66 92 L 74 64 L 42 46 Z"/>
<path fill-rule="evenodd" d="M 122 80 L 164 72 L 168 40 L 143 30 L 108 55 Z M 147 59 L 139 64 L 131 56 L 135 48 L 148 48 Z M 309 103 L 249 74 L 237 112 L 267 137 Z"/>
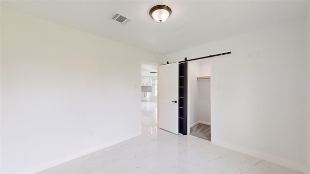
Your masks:
<path fill-rule="evenodd" d="M 115 145 L 115 144 L 121 143 L 121 142 L 129 140 L 131 138 L 137 137 L 140 134 L 141 134 L 141 131 L 133 133 L 133 134 L 128 135 L 128 136 L 124 136 L 124 137 L 112 140 L 112 141 L 110 141 L 108 143 L 96 145 L 96 146 L 93 146 L 91 148 L 88 148 L 88 149 L 85 149 L 85 150 L 81 150 L 79 152 L 76 152 L 76 153 L 73 153 L 73 154 L 70 154 L 70 155 L 66 155 L 64 157 L 61 157 L 61 158 L 58 158 L 58 159 L 55 159 L 55 160 L 50 160 L 50 161 L 47 161 L 47 162 L 44 162 L 44 163 L 41 163 L 41 164 L 37 164 L 37 165 L 32 166 L 30 168 L 26 168 L 26 169 L 20 170 L 20 171 L 14 173 L 14 174 L 34 174 L 34 173 L 38 173 L 38 172 L 41 172 L 43 170 L 46 170 L 46 169 L 49 169 L 51 167 L 57 166 L 59 164 L 62 164 L 64 162 L 77 159 L 77 158 L 82 157 L 84 155 L 87 155 L 89 153 L 98 151 L 100 149 L 109 147 L 111 145 Z"/>

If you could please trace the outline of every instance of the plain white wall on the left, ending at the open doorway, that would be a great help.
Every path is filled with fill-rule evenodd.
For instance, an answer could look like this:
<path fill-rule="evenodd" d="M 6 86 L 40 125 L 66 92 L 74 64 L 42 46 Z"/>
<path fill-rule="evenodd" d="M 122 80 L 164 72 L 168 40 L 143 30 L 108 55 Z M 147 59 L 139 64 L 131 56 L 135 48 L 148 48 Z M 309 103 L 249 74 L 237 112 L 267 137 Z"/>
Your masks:
<path fill-rule="evenodd" d="M 0 56 L 1 173 L 139 135 L 140 60 L 162 57 L 4 8 Z"/>

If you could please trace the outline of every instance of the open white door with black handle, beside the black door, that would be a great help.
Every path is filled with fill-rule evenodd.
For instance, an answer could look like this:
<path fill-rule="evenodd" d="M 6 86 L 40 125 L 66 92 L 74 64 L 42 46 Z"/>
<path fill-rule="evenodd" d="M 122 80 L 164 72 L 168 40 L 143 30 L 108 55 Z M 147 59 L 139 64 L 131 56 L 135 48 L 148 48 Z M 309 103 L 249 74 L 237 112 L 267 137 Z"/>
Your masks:
<path fill-rule="evenodd" d="M 159 128 L 179 133 L 179 63 L 159 66 Z"/>

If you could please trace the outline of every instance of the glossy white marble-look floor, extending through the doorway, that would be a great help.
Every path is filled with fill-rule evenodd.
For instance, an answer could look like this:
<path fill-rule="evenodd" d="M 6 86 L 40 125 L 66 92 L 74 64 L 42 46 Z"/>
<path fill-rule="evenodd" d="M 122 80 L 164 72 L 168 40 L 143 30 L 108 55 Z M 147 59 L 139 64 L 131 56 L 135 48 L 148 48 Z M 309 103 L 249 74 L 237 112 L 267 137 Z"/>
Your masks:
<path fill-rule="evenodd" d="M 156 103 L 141 103 L 141 135 L 39 174 L 300 174 L 192 136 L 156 128 Z"/>

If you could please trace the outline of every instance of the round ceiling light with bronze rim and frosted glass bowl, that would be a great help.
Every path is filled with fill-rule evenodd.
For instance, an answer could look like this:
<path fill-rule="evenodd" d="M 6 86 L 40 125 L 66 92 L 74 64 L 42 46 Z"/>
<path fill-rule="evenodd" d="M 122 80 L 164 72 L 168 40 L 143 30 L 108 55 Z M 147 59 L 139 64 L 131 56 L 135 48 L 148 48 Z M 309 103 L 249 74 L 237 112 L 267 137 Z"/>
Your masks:
<path fill-rule="evenodd" d="M 150 16 L 156 22 L 164 22 L 171 15 L 171 8 L 167 5 L 156 5 L 150 10 Z"/>

